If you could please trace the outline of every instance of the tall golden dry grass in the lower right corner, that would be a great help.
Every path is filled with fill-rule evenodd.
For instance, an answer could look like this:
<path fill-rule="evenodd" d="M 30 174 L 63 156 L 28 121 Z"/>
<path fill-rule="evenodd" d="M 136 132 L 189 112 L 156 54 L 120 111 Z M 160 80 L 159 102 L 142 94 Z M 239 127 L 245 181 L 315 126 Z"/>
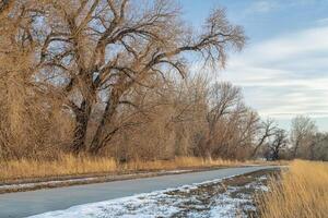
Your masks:
<path fill-rule="evenodd" d="M 259 197 L 263 218 L 324 218 L 328 209 L 328 164 L 295 160 L 271 192 Z"/>

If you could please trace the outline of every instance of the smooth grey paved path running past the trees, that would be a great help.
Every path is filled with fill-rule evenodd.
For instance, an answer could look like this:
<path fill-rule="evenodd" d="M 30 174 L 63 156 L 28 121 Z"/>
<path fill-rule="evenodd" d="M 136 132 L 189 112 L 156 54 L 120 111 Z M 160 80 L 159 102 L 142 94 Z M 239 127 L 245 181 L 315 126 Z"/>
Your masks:
<path fill-rule="evenodd" d="M 96 184 L 0 194 L 0 218 L 20 218 L 71 206 L 131 196 L 185 184 L 244 174 L 270 166 L 226 168 Z"/>

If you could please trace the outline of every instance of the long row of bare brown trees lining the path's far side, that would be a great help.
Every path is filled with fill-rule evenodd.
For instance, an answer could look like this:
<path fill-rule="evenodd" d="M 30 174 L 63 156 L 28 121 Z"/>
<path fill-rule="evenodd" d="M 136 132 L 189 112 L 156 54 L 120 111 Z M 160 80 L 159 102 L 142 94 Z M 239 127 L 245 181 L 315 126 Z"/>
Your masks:
<path fill-rule="evenodd" d="M 243 28 L 222 9 L 196 31 L 174 1 L 142 3 L 0 2 L 0 158 L 281 157 L 286 133 L 245 106 L 238 87 L 188 73 L 196 59 L 224 68 Z M 314 145 L 294 126 L 293 157 L 326 138 Z"/>

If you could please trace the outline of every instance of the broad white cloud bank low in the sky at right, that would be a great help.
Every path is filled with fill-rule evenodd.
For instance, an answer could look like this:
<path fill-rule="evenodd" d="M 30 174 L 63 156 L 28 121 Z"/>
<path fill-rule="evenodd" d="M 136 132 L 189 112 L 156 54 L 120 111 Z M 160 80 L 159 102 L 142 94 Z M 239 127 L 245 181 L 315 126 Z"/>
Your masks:
<path fill-rule="evenodd" d="M 249 45 L 231 57 L 221 80 L 241 85 L 262 116 L 328 117 L 327 36 L 320 26 Z"/>

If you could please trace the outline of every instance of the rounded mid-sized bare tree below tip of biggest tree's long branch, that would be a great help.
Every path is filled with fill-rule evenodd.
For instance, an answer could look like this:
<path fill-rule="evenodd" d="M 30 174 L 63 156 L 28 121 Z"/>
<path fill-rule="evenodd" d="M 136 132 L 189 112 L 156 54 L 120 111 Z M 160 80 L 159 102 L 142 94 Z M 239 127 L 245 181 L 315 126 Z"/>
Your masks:
<path fill-rule="evenodd" d="M 241 88 L 226 82 L 210 88 L 202 156 L 236 158 L 238 149 L 253 145 L 257 113 L 244 105 Z"/>

